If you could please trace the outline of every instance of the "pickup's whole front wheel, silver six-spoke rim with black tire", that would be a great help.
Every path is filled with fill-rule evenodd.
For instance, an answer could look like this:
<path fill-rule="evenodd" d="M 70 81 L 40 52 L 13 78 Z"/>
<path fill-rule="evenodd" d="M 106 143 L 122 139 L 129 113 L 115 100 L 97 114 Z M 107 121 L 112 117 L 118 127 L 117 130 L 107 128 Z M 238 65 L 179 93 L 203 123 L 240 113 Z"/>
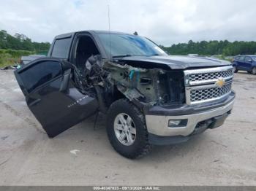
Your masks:
<path fill-rule="evenodd" d="M 145 117 L 127 99 L 115 101 L 108 110 L 107 133 L 110 144 L 127 158 L 138 158 L 151 150 Z"/>

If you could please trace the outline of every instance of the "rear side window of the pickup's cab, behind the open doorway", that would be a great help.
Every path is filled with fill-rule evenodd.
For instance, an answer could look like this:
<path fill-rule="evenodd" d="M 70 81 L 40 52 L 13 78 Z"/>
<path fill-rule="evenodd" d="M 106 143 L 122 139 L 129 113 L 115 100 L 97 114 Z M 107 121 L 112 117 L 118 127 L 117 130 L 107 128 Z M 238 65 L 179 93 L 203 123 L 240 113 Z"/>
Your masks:
<path fill-rule="evenodd" d="M 51 56 L 56 58 L 65 58 L 69 56 L 69 47 L 71 46 L 71 38 L 57 39 L 53 45 Z"/>

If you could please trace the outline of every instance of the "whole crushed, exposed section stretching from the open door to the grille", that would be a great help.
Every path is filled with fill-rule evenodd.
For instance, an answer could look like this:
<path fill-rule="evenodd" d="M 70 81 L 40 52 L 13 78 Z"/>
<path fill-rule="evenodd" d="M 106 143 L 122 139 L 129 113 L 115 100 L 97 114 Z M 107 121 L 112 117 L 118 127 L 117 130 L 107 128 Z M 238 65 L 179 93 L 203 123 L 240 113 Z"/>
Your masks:
<path fill-rule="evenodd" d="M 74 66 L 75 85 L 82 93 L 96 94 L 101 112 L 118 98 L 136 105 L 178 105 L 185 102 L 183 71 L 146 69 L 91 56 L 83 71 Z"/>

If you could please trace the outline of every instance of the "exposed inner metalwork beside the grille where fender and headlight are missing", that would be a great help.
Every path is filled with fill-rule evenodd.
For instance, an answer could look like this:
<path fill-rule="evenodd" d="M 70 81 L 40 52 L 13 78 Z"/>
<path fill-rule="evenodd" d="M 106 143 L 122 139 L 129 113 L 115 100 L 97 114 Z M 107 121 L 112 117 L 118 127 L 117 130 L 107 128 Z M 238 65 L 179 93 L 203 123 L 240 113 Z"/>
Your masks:
<path fill-rule="evenodd" d="M 184 79 L 182 71 L 143 69 L 106 62 L 111 82 L 129 101 L 145 106 L 183 104 Z"/>

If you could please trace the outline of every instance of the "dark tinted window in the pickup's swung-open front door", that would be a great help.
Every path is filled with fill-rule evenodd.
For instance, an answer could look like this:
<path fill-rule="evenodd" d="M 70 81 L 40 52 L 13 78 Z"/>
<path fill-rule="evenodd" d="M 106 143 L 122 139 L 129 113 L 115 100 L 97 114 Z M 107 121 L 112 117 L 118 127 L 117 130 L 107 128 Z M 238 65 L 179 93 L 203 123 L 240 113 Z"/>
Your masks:
<path fill-rule="evenodd" d="M 20 73 L 23 85 L 30 93 L 40 85 L 49 82 L 50 79 L 58 77 L 61 74 L 61 64 L 57 61 L 42 61 L 29 67 Z"/>

